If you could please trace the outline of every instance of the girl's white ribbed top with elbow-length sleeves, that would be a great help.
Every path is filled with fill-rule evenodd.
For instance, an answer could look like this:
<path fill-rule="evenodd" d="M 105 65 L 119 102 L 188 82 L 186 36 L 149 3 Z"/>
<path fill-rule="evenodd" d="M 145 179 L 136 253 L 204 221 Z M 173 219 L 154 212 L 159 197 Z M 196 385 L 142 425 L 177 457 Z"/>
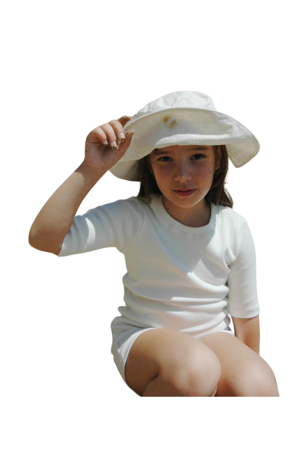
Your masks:
<path fill-rule="evenodd" d="M 210 222 L 196 228 L 171 218 L 160 195 L 151 204 L 130 197 L 97 206 L 75 217 L 58 257 L 111 247 L 125 257 L 118 311 L 127 329 L 167 328 L 200 340 L 226 329 L 229 315 L 260 314 L 251 230 L 227 206 L 211 204 Z"/>

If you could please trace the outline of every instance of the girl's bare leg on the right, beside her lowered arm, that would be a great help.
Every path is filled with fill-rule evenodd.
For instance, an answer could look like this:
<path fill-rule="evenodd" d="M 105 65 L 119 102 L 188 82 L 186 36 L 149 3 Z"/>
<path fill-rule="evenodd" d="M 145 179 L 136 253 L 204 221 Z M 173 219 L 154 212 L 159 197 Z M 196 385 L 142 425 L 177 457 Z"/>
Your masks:
<path fill-rule="evenodd" d="M 215 396 L 279 396 L 270 365 L 238 338 L 217 332 L 201 342 L 220 360 L 221 377 Z"/>

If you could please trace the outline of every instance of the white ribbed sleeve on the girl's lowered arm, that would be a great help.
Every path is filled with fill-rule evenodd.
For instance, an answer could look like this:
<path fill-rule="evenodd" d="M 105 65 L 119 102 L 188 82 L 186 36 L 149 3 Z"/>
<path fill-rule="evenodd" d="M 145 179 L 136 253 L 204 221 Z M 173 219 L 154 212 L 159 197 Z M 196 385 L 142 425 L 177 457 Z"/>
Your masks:
<path fill-rule="evenodd" d="M 236 259 L 229 268 L 228 313 L 230 316 L 242 318 L 258 316 L 260 303 L 257 287 L 257 253 L 246 220 L 239 232 Z"/>

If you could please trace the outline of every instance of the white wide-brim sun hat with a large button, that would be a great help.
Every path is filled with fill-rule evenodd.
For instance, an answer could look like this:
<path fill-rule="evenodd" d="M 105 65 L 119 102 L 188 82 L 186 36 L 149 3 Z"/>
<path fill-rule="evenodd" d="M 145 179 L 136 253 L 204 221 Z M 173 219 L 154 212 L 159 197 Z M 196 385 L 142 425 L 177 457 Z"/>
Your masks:
<path fill-rule="evenodd" d="M 258 155 L 260 143 L 244 124 L 217 111 L 213 98 L 198 90 L 177 90 L 147 103 L 124 126 L 134 129 L 122 158 L 109 169 L 118 179 L 138 181 L 138 160 L 171 145 L 226 145 L 235 168 Z"/>

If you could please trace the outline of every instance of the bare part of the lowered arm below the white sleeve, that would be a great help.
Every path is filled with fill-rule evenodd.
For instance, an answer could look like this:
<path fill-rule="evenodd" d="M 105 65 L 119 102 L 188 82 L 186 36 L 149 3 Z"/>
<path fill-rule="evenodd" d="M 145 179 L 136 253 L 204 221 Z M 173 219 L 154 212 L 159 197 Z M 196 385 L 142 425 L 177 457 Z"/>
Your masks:
<path fill-rule="evenodd" d="M 242 319 L 232 317 L 236 337 L 255 353 L 260 354 L 260 318 L 259 316 Z"/>

